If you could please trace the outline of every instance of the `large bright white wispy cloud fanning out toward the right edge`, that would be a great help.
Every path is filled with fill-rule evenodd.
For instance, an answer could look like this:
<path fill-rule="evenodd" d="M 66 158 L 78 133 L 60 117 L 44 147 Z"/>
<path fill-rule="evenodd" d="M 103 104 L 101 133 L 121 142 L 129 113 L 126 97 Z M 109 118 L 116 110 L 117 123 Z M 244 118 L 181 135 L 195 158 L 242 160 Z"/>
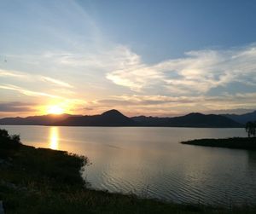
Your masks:
<path fill-rule="evenodd" d="M 171 94 L 207 94 L 211 89 L 237 82 L 256 85 L 256 44 L 240 49 L 204 49 L 185 53 L 183 58 L 154 65 L 139 56 L 131 66 L 108 72 L 106 78 L 134 91 L 159 87 Z"/>

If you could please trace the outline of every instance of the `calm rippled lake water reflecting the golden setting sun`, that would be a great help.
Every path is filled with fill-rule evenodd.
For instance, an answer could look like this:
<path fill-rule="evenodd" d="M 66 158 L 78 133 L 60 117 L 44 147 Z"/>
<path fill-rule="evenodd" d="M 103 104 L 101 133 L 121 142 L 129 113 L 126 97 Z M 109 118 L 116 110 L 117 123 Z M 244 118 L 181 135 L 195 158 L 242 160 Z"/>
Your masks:
<path fill-rule="evenodd" d="M 182 145 L 243 129 L 1 126 L 24 144 L 84 154 L 92 188 L 176 202 L 256 201 L 256 152 Z"/>

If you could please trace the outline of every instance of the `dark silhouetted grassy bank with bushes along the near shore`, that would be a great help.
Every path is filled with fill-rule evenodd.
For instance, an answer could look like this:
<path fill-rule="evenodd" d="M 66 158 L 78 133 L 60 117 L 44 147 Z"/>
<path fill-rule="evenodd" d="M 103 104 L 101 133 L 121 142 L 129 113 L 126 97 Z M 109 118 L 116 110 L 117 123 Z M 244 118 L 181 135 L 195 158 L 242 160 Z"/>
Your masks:
<path fill-rule="evenodd" d="M 256 207 L 229 210 L 139 199 L 86 188 L 80 169 L 88 160 L 63 151 L 22 145 L 1 130 L 0 200 L 12 213 L 255 213 Z"/>

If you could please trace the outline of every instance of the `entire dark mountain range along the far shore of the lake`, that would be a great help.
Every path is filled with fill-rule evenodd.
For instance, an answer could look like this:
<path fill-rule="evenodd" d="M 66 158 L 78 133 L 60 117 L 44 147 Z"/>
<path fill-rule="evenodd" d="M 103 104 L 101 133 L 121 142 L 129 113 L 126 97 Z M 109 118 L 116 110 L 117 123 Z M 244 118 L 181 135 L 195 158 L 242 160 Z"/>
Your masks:
<path fill-rule="evenodd" d="M 16 125 L 58 125 L 58 126 L 160 126 L 160 127 L 208 127 L 208 128 L 235 128 L 244 127 L 247 121 L 256 120 L 256 111 L 253 113 L 236 114 L 203 114 L 189 113 L 180 117 L 126 117 L 117 110 L 105 113 L 83 116 L 71 114 L 48 114 L 27 118 L 4 118 L 0 124 Z"/>

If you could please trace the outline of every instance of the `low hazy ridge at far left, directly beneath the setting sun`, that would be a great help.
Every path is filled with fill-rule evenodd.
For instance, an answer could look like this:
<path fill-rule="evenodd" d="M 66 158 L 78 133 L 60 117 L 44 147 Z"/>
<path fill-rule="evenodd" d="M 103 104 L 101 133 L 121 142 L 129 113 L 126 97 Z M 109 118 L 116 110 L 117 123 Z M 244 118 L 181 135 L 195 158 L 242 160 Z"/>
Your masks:
<path fill-rule="evenodd" d="M 60 115 L 48 114 L 42 116 L 31 116 L 27 118 L 5 118 L 0 119 L 0 124 L 22 124 L 22 125 L 46 125 L 59 122 L 69 117 L 75 117 L 74 115 L 63 113 Z"/>

